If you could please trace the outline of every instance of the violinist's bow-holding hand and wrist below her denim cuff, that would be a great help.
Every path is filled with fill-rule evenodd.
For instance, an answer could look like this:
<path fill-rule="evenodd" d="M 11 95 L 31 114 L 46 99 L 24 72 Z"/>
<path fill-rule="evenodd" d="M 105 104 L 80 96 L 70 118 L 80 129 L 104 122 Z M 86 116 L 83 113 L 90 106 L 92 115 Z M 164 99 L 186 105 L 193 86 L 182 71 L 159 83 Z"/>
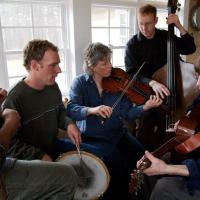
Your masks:
<path fill-rule="evenodd" d="M 88 115 L 97 115 L 103 118 L 109 118 L 112 115 L 112 108 L 110 106 L 97 106 L 93 108 L 88 108 Z"/>

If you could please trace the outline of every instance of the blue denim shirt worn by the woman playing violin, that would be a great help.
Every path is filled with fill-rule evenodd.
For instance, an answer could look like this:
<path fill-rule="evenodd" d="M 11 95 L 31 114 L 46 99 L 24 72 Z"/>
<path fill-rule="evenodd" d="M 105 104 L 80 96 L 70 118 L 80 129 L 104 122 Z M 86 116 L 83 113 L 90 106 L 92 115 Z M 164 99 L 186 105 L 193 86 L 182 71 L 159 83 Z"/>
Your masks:
<path fill-rule="evenodd" d="M 79 75 L 70 88 L 67 115 L 76 121 L 82 135 L 102 138 L 116 144 L 124 133 L 123 120 L 135 120 L 144 116 L 143 106 L 134 106 L 124 96 L 114 108 L 112 116 L 103 123 L 99 116 L 87 116 L 87 109 L 99 105 L 112 107 L 119 95 L 120 93 L 103 91 L 100 96 L 92 76 L 88 74 Z"/>

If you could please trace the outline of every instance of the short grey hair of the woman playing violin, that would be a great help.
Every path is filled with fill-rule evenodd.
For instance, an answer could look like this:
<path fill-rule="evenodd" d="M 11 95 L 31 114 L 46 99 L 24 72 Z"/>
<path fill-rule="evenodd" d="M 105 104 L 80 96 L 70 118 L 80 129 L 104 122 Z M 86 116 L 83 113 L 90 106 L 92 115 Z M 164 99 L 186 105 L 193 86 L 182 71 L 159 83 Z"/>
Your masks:
<path fill-rule="evenodd" d="M 84 71 L 91 74 L 91 67 L 95 66 L 98 61 L 105 59 L 111 54 L 112 50 L 100 42 L 89 44 L 84 51 Z"/>

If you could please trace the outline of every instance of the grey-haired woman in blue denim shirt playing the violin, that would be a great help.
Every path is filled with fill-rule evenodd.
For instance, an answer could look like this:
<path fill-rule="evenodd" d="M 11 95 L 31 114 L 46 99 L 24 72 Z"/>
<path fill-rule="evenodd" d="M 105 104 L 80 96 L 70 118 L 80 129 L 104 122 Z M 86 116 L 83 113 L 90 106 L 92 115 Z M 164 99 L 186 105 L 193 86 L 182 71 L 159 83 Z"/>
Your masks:
<path fill-rule="evenodd" d="M 134 120 L 157 107 L 162 100 L 150 96 L 144 105 L 134 106 L 126 96 L 113 109 L 120 93 L 104 91 L 103 78 L 112 71 L 111 50 L 92 43 L 84 52 L 86 73 L 75 78 L 70 89 L 68 115 L 76 121 L 82 140 L 98 146 L 105 155 L 111 183 L 104 199 L 128 199 L 128 182 L 131 169 L 144 154 L 143 146 L 128 134 L 123 120 Z"/>

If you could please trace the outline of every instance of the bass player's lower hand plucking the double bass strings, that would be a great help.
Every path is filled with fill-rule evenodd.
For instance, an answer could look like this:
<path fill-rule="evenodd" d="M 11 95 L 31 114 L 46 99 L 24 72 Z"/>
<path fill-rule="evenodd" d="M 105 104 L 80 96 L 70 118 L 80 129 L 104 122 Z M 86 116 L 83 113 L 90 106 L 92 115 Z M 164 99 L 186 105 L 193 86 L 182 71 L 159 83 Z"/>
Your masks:
<path fill-rule="evenodd" d="M 166 96 L 170 95 L 168 88 L 165 85 L 163 85 L 162 83 L 159 83 L 155 80 L 151 80 L 149 82 L 149 86 L 153 89 L 156 96 L 161 97 L 162 99 L 164 99 Z"/>

